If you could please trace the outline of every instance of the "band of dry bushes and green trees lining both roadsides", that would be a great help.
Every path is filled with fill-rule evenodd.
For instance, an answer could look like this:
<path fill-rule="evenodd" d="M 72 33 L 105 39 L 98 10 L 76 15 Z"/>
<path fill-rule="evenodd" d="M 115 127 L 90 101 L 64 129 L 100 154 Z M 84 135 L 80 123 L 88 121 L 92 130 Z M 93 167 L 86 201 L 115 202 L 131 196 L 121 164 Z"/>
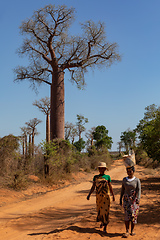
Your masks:
<path fill-rule="evenodd" d="M 31 184 L 30 176 L 37 177 L 40 184 L 57 184 L 70 179 L 72 173 L 95 170 L 100 161 L 110 167 L 115 159 L 121 159 L 130 150 L 134 150 L 137 164 L 158 170 L 159 116 L 159 107 L 154 104 L 146 107 L 136 129 L 121 133 L 119 151 L 115 153 L 110 152 L 113 141 L 106 127 L 93 127 L 87 132 L 88 119 L 83 115 L 77 115 L 75 124 L 66 123 L 65 139 L 45 140 L 35 146 L 36 126 L 41 120 L 34 118 L 21 128 L 20 136 L 10 134 L 0 138 L 0 185 L 24 189 Z"/>

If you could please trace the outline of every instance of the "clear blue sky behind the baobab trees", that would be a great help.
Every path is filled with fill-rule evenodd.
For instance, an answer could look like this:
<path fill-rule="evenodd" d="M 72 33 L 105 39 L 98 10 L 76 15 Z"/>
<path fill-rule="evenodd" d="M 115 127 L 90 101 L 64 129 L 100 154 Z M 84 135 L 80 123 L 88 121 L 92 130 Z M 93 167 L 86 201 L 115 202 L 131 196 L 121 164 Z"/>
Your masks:
<path fill-rule="evenodd" d="M 34 10 L 47 4 L 65 4 L 76 9 L 72 30 L 79 23 L 99 20 L 106 25 L 107 39 L 117 42 L 122 61 L 108 69 L 96 69 L 85 76 L 86 90 L 80 91 L 65 74 L 65 121 L 75 123 L 76 115 L 88 118 L 87 130 L 104 125 L 117 149 L 121 132 L 136 127 L 145 107 L 160 105 L 160 1 L 159 0 L 6 0 L 0 12 L 0 137 L 20 135 L 20 127 L 33 118 L 40 135 L 36 144 L 45 139 L 45 116 L 32 105 L 35 100 L 50 96 L 48 85 L 36 94 L 29 82 L 13 83 L 13 69 L 25 65 L 16 49 L 21 46 L 19 26 Z M 84 137 L 84 136 L 82 136 Z"/>

